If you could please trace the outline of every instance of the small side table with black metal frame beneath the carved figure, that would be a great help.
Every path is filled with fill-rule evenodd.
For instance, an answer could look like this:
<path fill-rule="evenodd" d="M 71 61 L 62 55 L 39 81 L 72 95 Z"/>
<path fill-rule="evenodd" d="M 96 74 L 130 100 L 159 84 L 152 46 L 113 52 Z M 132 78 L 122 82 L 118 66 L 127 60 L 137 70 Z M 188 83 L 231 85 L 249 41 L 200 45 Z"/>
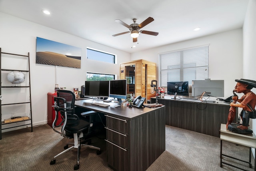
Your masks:
<path fill-rule="evenodd" d="M 228 141 L 230 143 L 235 143 L 235 144 L 244 145 L 246 147 L 250 147 L 249 162 L 222 154 L 222 141 Z M 223 123 L 220 124 L 220 167 L 222 167 L 222 163 L 223 163 L 223 164 L 241 169 L 241 168 L 234 166 L 230 163 L 223 162 L 222 156 L 226 156 L 226 157 L 230 157 L 232 159 L 236 159 L 236 160 L 248 163 L 249 167 L 252 168 L 252 163 L 251 163 L 252 148 L 256 149 L 256 136 L 254 133 L 250 133 L 250 134 L 233 133 L 233 132 L 229 131 L 228 129 L 226 129 L 226 124 L 223 124 Z M 254 171 L 256 171 L 255 164 L 256 164 L 256 159 L 254 159 Z M 244 169 L 242 169 L 242 170 L 244 170 Z"/>

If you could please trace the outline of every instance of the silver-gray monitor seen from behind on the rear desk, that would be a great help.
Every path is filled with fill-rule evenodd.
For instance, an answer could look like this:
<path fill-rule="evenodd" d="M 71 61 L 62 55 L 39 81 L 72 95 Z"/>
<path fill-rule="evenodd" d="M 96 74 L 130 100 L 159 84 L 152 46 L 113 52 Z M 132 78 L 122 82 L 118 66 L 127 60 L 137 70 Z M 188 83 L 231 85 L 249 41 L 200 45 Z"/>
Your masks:
<path fill-rule="evenodd" d="M 224 80 L 192 80 L 192 96 L 224 97 Z"/>

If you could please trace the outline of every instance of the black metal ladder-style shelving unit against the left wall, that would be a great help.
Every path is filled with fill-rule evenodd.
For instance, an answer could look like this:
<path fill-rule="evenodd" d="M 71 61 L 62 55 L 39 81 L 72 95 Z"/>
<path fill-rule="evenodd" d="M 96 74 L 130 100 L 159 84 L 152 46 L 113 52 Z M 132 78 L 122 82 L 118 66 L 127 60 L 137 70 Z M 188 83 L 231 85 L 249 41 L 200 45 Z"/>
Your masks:
<path fill-rule="evenodd" d="M 10 57 L 16 56 L 16 57 L 27 58 L 27 60 L 28 60 L 28 70 L 9 70 L 9 69 L 2 68 L 2 65 L 1 65 L 2 54 L 6 54 L 7 56 L 10 55 Z M 1 120 L 1 124 L 0 124 L 0 139 L 2 139 L 2 130 L 4 130 L 4 129 L 10 129 L 10 128 L 14 128 L 14 127 L 21 127 L 21 126 L 25 126 L 25 125 L 31 125 L 31 132 L 32 132 L 33 131 L 33 125 L 32 125 L 32 105 L 31 105 L 31 84 L 30 84 L 30 58 L 29 58 L 29 52 L 28 52 L 28 55 L 10 54 L 10 53 L 2 52 L 2 50 L 0 48 L 0 68 L 1 68 L 1 73 L 2 73 L 2 71 L 28 72 L 28 79 L 29 79 L 28 86 L 2 86 L 2 74 L 0 75 L 0 80 L 1 80 L 1 88 L 0 88 L 0 98 L 1 98 L 1 100 L 0 100 L 0 105 L 1 105 L 1 107 L 0 107 L 0 113 L 1 113 L 1 115 L 0 115 L 0 120 Z M 9 88 L 29 88 L 29 101 L 22 102 L 22 103 L 2 104 L 2 89 L 9 89 Z M 26 103 L 30 104 L 30 113 L 29 113 L 28 119 L 21 120 L 21 121 L 8 122 L 8 123 L 4 123 L 4 121 L 2 121 L 2 106 L 3 105 L 18 105 L 18 104 L 26 104 Z M 10 126 L 10 127 L 4 128 L 4 129 L 2 128 L 2 125 L 18 123 L 18 122 L 24 122 L 24 121 L 30 121 L 30 123 L 25 123 L 25 124 L 16 125 L 16 126 Z"/>

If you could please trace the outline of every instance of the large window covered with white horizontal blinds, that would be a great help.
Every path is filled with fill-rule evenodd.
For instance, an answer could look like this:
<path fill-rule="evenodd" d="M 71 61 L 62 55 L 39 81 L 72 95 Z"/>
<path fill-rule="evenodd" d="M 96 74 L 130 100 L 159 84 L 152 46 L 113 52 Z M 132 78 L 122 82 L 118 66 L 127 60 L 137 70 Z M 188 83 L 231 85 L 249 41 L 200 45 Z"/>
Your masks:
<path fill-rule="evenodd" d="M 209 78 L 209 45 L 159 54 L 159 85 Z"/>

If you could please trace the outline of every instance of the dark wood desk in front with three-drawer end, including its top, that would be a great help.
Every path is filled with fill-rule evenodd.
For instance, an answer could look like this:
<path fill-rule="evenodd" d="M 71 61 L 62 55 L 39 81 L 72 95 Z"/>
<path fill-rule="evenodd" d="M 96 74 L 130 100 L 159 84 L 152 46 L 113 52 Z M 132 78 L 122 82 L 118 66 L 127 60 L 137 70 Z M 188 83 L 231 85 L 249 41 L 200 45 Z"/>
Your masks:
<path fill-rule="evenodd" d="M 165 151 L 165 107 L 129 108 L 92 105 L 78 100 L 76 107 L 104 113 L 108 166 L 118 171 L 145 171 Z"/>

